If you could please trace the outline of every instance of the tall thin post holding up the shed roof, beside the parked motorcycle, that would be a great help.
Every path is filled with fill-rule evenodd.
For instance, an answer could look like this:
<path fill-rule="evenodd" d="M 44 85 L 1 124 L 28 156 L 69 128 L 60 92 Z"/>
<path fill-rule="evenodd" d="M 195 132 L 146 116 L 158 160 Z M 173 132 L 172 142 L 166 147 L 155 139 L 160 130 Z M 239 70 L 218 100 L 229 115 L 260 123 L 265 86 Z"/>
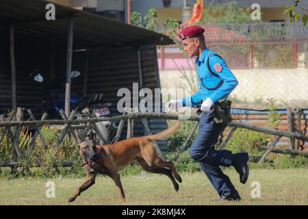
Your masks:
<path fill-rule="evenodd" d="M 73 51 L 73 18 L 68 19 L 68 39 L 66 53 L 66 85 L 65 85 L 65 113 L 70 113 L 70 73 L 72 71 Z"/>

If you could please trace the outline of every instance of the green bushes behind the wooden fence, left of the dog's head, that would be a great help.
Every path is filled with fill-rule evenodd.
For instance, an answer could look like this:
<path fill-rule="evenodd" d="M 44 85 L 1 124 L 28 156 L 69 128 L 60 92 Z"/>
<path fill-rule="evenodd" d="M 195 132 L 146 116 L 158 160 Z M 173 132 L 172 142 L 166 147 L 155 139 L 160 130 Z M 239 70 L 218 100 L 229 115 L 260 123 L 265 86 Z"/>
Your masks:
<path fill-rule="evenodd" d="M 55 149 L 55 142 L 60 134 L 60 130 L 53 127 L 42 127 L 42 134 L 46 145 L 42 143 L 40 137 L 36 140 L 36 146 L 29 157 L 25 159 L 18 158 L 17 162 L 23 167 L 20 168 L 0 168 L 0 177 L 18 178 L 18 177 L 80 177 L 84 176 L 82 158 L 77 151 L 77 145 L 72 139 L 64 138 L 59 149 Z M 24 155 L 27 154 L 31 142 L 31 134 L 27 130 L 21 132 L 20 148 Z M 0 151 L 1 161 L 10 160 L 10 138 L 4 136 L 3 150 Z M 71 167 L 62 167 L 62 162 L 73 162 Z"/>

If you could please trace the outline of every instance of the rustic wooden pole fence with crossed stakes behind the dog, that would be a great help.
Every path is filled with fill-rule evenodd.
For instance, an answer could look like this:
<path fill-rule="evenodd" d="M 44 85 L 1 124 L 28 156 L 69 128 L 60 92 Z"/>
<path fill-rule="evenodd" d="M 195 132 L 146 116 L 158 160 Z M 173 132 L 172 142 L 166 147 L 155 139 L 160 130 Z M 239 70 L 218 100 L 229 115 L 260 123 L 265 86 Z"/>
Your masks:
<path fill-rule="evenodd" d="M 151 135 L 151 129 L 149 128 L 149 123 L 146 118 L 164 118 L 168 120 L 194 120 L 194 127 L 190 134 L 188 135 L 188 138 L 185 140 L 183 145 L 181 145 L 181 148 L 179 149 L 179 153 L 174 158 L 174 160 L 179 158 L 179 155 L 183 153 L 186 149 L 188 149 L 188 142 L 194 135 L 194 132 L 196 131 L 198 127 L 198 121 L 200 116 L 198 115 L 190 115 L 185 116 L 182 114 L 175 114 L 175 113 L 141 113 L 141 112 L 132 112 L 130 109 L 126 109 L 122 116 L 113 116 L 113 117 L 102 117 L 102 118 L 95 118 L 94 114 L 90 115 L 89 118 L 84 119 L 76 119 L 76 112 L 73 110 L 70 112 L 69 115 L 66 115 L 63 110 L 60 111 L 60 114 L 62 116 L 62 120 L 46 120 L 47 114 L 44 113 L 40 120 L 37 120 L 34 115 L 32 114 L 31 110 L 27 110 L 27 113 L 29 114 L 28 120 L 23 120 L 24 118 L 24 109 L 21 107 L 18 107 L 17 110 L 12 110 L 9 116 L 7 118 L 4 118 L 2 116 L 0 127 L 3 127 L 3 130 L 1 132 L 0 136 L 0 143 L 2 142 L 5 135 L 8 135 L 8 138 L 10 138 L 12 142 L 12 161 L 11 162 L 0 162 L 0 166 L 11 166 L 16 167 L 19 166 L 17 161 L 17 157 L 21 157 L 22 159 L 27 159 L 32 151 L 34 150 L 34 147 L 36 146 L 36 140 L 38 137 L 41 138 L 42 144 L 44 144 L 44 147 L 47 147 L 47 144 L 44 140 L 44 136 L 42 134 L 41 128 L 43 125 L 63 125 L 63 129 L 60 133 L 60 136 L 57 137 L 57 141 L 55 142 L 55 149 L 58 149 L 62 141 L 64 140 L 65 136 L 69 136 L 70 138 L 73 138 L 75 143 L 79 145 L 81 141 L 83 141 L 86 137 L 86 133 L 88 133 L 89 129 L 94 128 L 97 132 L 97 135 L 99 136 L 100 140 L 102 142 L 105 142 L 105 139 L 103 138 L 102 133 L 100 133 L 99 129 L 97 128 L 96 123 L 102 122 L 102 121 L 114 121 L 114 120 L 120 120 L 120 123 L 118 125 L 118 129 L 116 132 L 116 136 L 112 140 L 112 142 L 117 142 L 120 140 L 121 133 L 123 131 L 123 125 L 124 123 L 127 123 L 127 138 L 133 137 L 133 121 L 138 119 L 141 121 L 144 131 L 146 134 Z M 293 115 L 294 116 L 294 115 Z M 220 142 L 218 149 L 222 150 L 227 146 L 227 142 L 231 139 L 233 136 L 233 133 L 236 129 L 242 128 L 242 129 L 250 129 L 253 131 L 259 131 L 261 133 L 270 134 L 273 136 L 277 136 L 274 140 L 274 142 L 268 144 L 267 146 L 260 146 L 261 149 L 266 150 L 264 155 L 259 159 L 259 163 L 264 162 L 264 159 L 268 156 L 270 152 L 272 153 L 285 153 L 290 155 L 302 155 L 305 157 L 308 157 L 308 152 L 306 151 L 299 151 L 295 149 L 295 140 L 298 141 L 304 141 L 308 142 L 308 136 L 305 136 L 303 133 L 300 133 L 298 131 L 298 128 L 296 129 L 294 127 L 294 119 L 292 119 L 292 114 L 288 114 L 288 120 L 290 120 L 290 129 L 289 131 L 282 131 L 277 129 L 268 129 L 266 127 L 259 127 L 255 125 L 251 125 L 248 123 L 240 123 L 238 121 L 232 121 L 229 123 L 229 127 L 231 128 L 231 131 L 229 132 L 229 135 L 225 140 L 222 142 L 222 135 L 220 136 Z M 34 135 L 31 140 L 31 145 L 29 146 L 27 153 L 23 154 L 21 152 L 21 149 L 19 148 L 19 139 L 21 135 L 21 129 L 22 127 L 31 127 L 31 129 L 34 130 Z M 81 129 L 81 132 L 76 133 L 77 129 Z M 287 137 L 290 138 L 290 149 L 277 149 L 275 146 L 281 139 L 281 137 Z M 161 153 L 163 157 L 164 153 Z M 64 162 L 62 166 L 70 166 L 71 162 Z"/>

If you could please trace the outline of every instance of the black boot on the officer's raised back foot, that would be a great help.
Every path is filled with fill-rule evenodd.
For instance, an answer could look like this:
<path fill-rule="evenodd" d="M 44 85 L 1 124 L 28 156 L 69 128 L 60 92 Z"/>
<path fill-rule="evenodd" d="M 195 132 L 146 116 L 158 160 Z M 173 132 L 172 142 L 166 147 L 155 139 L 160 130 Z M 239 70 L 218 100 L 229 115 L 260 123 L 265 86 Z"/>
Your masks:
<path fill-rule="evenodd" d="M 243 184 L 246 183 L 249 175 L 248 159 L 248 153 L 235 153 L 232 159 L 231 165 L 240 174 L 240 182 Z"/>

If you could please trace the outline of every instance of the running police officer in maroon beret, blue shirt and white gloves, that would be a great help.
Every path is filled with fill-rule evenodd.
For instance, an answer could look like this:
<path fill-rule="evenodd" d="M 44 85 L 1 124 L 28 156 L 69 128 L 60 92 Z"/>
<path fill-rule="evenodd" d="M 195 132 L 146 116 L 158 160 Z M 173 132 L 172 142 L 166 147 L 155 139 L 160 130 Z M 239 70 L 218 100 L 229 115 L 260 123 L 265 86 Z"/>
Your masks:
<path fill-rule="evenodd" d="M 207 49 L 203 32 L 205 29 L 190 26 L 180 33 L 183 50 L 188 57 L 196 56 L 196 68 L 200 90 L 184 99 L 168 102 L 170 109 L 178 105 L 197 107 L 201 103 L 201 118 L 199 120 L 198 135 L 190 147 L 192 159 L 200 162 L 201 168 L 209 181 L 218 192 L 220 199 L 239 201 L 240 194 L 235 190 L 229 177 L 224 175 L 219 166 L 234 166 L 240 174 L 240 182 L 246 183 L 248 179 L 248 154 L 231 153 L 227 150 L 215 150 L 214 146 L 218 136 L 227 126 L 226 123 L 215 123 L 214 104 L 220 99 L 226 99 L 231 91 L 238 85 L 226 62 L 214 51 Z"/>

